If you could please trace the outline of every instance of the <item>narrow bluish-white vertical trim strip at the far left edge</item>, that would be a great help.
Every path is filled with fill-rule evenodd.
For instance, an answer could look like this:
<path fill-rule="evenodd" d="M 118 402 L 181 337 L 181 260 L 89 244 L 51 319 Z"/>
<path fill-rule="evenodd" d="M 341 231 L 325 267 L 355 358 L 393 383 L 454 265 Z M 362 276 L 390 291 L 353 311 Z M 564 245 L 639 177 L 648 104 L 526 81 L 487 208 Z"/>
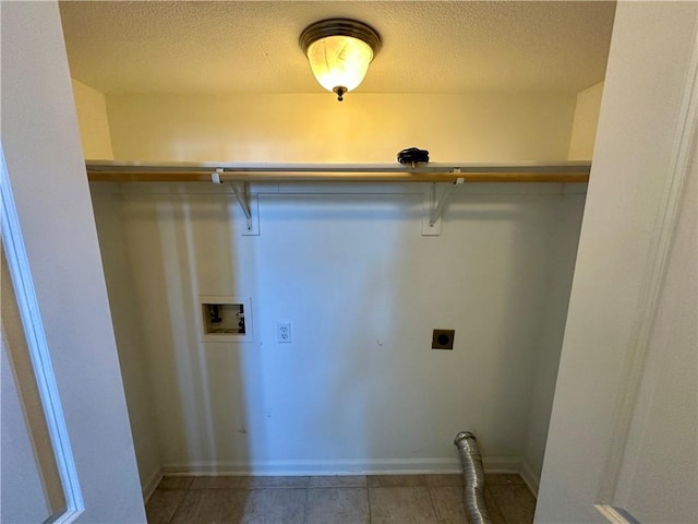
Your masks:
<path fill-rule="evenodd" d="M 0 172 L 0 187 L 2 188 L 2 199 L 0 201 L 2 246 L 5 251 L 8 269 L 14 286 L 32 367 L 53 448 L 56 465 L 65 497 L 65 510 L 60 514 L 52 515 L 48 522 L 69 524 L 75 521 L 85 510 L 85 504 L 1 143 L 0 164 L 2 165 Z"/>

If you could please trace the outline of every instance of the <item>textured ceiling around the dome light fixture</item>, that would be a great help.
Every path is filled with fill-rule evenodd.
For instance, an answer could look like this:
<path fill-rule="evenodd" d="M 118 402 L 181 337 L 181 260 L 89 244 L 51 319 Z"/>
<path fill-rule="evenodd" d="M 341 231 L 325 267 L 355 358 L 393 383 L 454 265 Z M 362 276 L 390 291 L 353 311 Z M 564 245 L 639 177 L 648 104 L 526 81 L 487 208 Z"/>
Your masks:
<path fill-rule="evenodd" d="M 361 93 L 579 92 L 604 78 L 615 2 L 67 1 L 73 78 L 104 93 L 320 93 L 298 37 L 334 16 L 383 48 Z"/>

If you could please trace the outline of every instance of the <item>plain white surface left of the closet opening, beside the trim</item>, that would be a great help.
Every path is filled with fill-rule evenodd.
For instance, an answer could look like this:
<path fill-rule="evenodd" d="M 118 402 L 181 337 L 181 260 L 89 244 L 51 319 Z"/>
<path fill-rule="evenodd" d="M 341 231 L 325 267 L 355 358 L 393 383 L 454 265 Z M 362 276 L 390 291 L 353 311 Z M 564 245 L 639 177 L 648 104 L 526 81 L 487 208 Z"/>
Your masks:
<path fill-rule="evenodd" d="M 76 522 L 145 522 L 58 3 L 0 9 L 2 147 L 86 507 Z"/>

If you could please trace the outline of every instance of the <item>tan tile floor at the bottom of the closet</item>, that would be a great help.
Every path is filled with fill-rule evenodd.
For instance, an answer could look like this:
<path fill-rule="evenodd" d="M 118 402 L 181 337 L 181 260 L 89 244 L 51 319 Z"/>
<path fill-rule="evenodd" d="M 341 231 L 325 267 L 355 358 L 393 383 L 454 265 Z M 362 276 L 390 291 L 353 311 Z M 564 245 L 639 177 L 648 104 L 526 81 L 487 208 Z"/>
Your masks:
<path fill-rule="evenodd" d="M 467 524 L 461 475 L 165 477 L 148 524 Z M 518 475 L 485 479 L 493 524 L 530 524 L 535 499 Z"/>

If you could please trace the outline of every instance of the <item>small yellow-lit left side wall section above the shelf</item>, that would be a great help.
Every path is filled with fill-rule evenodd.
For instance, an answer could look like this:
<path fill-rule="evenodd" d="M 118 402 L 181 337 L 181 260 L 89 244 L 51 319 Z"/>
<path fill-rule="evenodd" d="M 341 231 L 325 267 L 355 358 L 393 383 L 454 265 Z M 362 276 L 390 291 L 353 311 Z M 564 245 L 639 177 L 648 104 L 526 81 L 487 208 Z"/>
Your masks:
<path fill-rule="evenodd" d="M 105 95 L 73 79 L 73 96 L 85 158 L 113 158 Z"/>

